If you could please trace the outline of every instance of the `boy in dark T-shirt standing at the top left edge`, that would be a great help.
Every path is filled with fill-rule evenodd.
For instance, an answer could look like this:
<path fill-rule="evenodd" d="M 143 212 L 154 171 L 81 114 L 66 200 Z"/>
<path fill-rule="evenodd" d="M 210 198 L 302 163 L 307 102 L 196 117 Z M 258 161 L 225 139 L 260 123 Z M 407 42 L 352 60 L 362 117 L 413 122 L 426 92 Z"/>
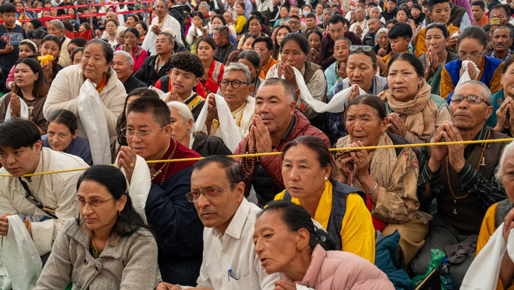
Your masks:
<path fill-rule="evenodd" d="M 0 24 L 0 68 L 3 72 L 0 90 L 5 91 L 5 81 L 9 72 L 18 60 L 21 40 L 27 39 L 25 29 L 16 25 L 16 7 L 4 2 L 0 5 L 0 16 L 3 23 Z"/>

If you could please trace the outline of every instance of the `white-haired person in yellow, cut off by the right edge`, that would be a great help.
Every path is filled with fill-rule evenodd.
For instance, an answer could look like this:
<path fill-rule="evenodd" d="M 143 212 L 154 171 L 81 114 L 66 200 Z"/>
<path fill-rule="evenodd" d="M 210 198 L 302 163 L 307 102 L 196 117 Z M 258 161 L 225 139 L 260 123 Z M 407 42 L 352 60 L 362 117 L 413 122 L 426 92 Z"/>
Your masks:
<path fill-rule="evenodd" d="M 503 149 L 502 157 L 500 157 L 500 166 L 498 166 L 498 170 L 496 171 L 496 180 L 502 181 L 508 198 L 500 202 L 496 202 L 494 205 L 491 205 L 489 209 L 487 209 L 484 220 L 482 221 L 482 226 L 480 227 L 480 234 L 478 234 L 475 256 L 477 256 L 478 253 L 480 253 L 480 251 L 485 247 L 487 241 L 489 241 L 489 238 L 493 235 L 493 233 L 502 222 L 505 221 L 503 237 L 500 237 L 500 239 L 505 239 L 505 242 L 507 242 L 509 232 L 514 226 L 514 178 L 512 174 L 514 171 L 514 163 L 512 162 L 513 160 L 514 142 L 511 142 Z M 496 290 L 512 289 L 514 282 L 514 263 L 510 259 L 507 252 L 505 252 L 501 260 L 500 277 L 498 278 L 498 285 L 496 286 Z"/>

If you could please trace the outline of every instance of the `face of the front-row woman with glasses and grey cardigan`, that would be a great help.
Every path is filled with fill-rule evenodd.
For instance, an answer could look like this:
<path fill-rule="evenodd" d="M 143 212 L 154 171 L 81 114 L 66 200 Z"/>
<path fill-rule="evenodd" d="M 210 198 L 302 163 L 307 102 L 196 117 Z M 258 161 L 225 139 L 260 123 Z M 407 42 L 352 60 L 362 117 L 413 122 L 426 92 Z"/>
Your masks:
<path fill-rule="evenodd" d="M 77 199 L 86 201 L 82 209 L 79 207 L 82 220 L 90 230 L 112 230 L 118 218 L 118 211 L 123 211 L 127 196 L 119 200 L 110 199 L 107 187 L 92 180 L 80 183 L 77 190 Z M 110 199 L 110 200 L 109 200 Z M 91 207 L 87 202 L 102 202 L 98 207 Z"/>

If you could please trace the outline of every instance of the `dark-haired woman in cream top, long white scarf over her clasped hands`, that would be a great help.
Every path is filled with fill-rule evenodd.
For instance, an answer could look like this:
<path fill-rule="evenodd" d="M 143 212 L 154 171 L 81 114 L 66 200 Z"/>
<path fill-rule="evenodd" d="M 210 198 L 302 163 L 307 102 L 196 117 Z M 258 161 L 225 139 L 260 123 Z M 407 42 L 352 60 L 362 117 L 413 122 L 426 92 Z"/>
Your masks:
<path fill-rule="evenodd" d="M 280 32 L 280 31 L 279 31 Z M 296 109 L 302 112 L 310 124 L 323 131 L 328 114 L 318 114 L 299 98 L 299 84 L 295 77 L 293 67 L 299 70 L 310 94 L 318 101 L 326 101 L 327 81 L 323 68 L 307 60 L 310 48 L 307 38 L 303 34 L 288 34 L 280 42 L 280 55 L 282 62 L 268 70 L 266 78 L 282 77 L 288 80 L 295 88 Z"/>

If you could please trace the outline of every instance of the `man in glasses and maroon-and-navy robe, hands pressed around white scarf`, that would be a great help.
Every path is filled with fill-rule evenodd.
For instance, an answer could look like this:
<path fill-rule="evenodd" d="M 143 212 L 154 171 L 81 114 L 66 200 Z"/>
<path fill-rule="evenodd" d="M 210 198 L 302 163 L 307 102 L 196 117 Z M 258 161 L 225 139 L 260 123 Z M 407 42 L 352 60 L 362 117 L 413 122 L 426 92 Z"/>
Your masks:
<path fill-rule="evenodd" d="M 130 183 L 136 155 L 146 161 L 200 157 L 171 137 L 169 107 L 160 98 L 142 96 L 127 107 L 128 146 L 117 157 Z M 196 161 L 148 163 L 151 188 L 145 204 L 148 224 L 157 229 L 159 267 L 164 282 L 191 285 L 201 265 L 203 226 L 185 194 Z"/>

